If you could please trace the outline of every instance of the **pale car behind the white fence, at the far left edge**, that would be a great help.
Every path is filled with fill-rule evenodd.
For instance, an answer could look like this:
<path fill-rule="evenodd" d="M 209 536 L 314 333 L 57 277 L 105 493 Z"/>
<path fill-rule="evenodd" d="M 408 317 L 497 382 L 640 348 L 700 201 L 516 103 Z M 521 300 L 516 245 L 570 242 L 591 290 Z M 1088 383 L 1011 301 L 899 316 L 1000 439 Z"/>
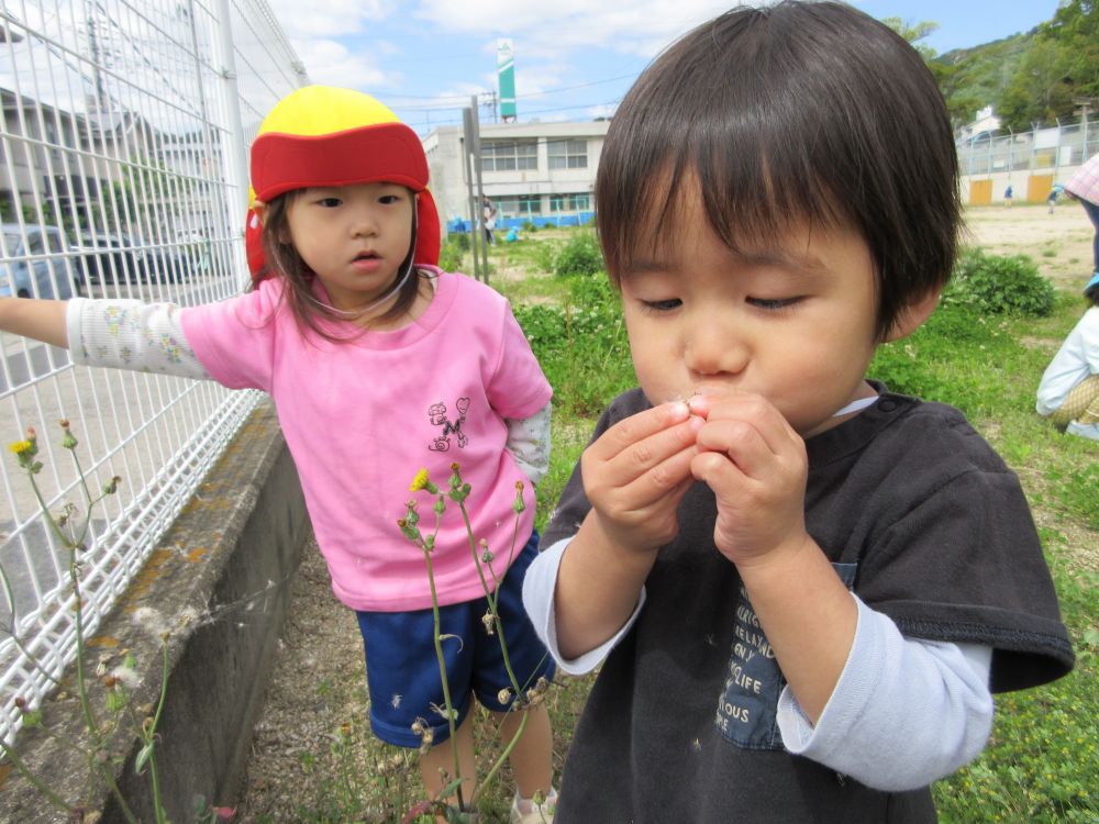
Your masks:
<path fill-rule="evenodd" d="M 73 297 L 65 235 L 57 226 L 4 223 L 0 245 L 0 298 Z"/>

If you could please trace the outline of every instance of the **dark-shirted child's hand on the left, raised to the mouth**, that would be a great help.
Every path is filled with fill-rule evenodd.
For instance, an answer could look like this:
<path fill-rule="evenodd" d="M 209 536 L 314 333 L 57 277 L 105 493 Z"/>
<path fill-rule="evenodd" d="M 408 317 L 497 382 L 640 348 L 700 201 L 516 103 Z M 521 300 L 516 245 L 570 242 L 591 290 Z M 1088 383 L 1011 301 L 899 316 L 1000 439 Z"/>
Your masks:
<path fill-rule="evenodd" d="M 584 452 L 584 491 L 607 539 L 655 550 L 676 536 L 702 423 L 686 403 L 665 403 L 620 421 Z"/>

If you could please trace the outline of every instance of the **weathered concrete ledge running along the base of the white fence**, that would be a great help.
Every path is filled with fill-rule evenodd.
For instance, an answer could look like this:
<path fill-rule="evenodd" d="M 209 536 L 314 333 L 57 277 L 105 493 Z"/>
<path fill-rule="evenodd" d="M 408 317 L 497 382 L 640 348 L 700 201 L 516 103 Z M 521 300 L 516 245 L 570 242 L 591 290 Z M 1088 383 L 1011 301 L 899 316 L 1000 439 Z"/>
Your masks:
<path fill-rule="evenodd" d="M 119 666 L 129 650 L 140 681 L 137 706 L 155 704 L 160 690 L 160 632 L 167 630 L 167 700 L 156 747 L 160 795 L 171 821 L 195 820 L 195 798 L 232 804 L 243 779 L 287 604 L 289 581 L 309 535 L 309 517 L 293 460 L 274 407 L 263 403 L 199 487 L 119 605 L 88 639 L 85 667 L 100 723 L 108 719 L 97 667 Z M 75 668 L 43 708 L 55 732 L 77 741 L 80 709 Z M 154 821 L 147 776 L 137 776 L 137 747 L 126 727 L 111 757 L 134 815 Z M 42 730 L 23 730 L 19 751 L 67 801 L 86 800 L 101 824 L 125 821 L 110 793 L 89 795 L 87 758 Z M 66 822 L 18 773 L 2 781 L 0 821 Z"/>

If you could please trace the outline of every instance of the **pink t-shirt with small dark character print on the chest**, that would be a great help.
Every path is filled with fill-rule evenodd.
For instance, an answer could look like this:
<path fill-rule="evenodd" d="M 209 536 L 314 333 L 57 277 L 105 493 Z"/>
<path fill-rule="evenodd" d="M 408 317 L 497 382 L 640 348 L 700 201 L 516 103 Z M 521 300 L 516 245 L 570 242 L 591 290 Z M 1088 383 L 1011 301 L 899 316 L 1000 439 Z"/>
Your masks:
<path fill-rule="evenodd" d="M 504 448 L 503 419 L 529 417 L 553 393 L 507 300 L 464 275 L 439 272 L 415 322 L 334 343 L 301 331 L 280 301 L 282 286 L 268 279 L 247 294 L 185 309 L 181 323 L 212 378 L 274 399 L 336 597 L 370 612 L 431 606 L 423 554 L 397 521 L 406 501 L 418 500 L 421 531 L 431 533 L 434 498 L 409 486 L 426 468 L 445 490 L 452 463 L 473 488 L 474 536 L 488 542 L 502 575 L 517 481 L 526 510 L 515 554 L 534 521 L 534 490 Z M 432 564 L 440 604 L 484 594 L 449 500 Z"/>

